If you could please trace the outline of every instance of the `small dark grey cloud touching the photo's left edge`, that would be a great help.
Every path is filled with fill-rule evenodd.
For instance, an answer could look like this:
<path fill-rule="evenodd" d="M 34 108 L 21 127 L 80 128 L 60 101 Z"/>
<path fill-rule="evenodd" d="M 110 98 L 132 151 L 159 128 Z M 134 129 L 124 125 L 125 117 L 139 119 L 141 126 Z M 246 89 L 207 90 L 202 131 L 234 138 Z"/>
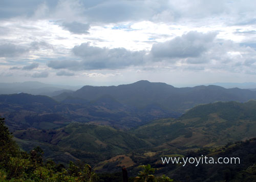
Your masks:
<path fill-rule="evenodd" d="M 0 44 L 0 57 L 16 57 L 27 52 L 29 52 L 27 48 L 13 43 Z"/>

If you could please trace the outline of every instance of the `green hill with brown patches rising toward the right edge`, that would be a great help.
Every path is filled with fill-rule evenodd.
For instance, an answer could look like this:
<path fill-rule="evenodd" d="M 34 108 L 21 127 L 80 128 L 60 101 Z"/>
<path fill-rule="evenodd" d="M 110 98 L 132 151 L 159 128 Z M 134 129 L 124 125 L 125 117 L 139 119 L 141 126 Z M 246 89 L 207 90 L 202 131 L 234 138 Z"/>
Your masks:
<path fill-rule="evenodd" d="M 200 148 L 256 137 L 256 101 L 198 105 L 178 119 L 161 119 L 134 130 L 158 148 Z"/>

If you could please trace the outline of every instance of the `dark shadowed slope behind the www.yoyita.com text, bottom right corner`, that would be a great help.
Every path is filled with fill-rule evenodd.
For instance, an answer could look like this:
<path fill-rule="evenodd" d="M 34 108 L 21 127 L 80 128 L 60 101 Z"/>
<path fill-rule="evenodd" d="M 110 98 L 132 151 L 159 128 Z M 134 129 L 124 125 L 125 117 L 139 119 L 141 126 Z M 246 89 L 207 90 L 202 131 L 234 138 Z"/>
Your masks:
<path fill-rule="evenodd" d="M 230 182 L 251 182 L 256 180 L 256 138 L 247 140 L 247 141 L 238 141 L 235 143 L 229 143 L 228 145 L 221 147 L 207 147 L 201 148 L 199 150 L 183 150 L 179 151 L 174 150 L 165 150 L 153 153 L 151 157 L 144 158 L 143 154 L 132 156 L 133 161 L 136 161 L 136 165 L 151 164 L 155 168 L 156 175 L 165 174 L 175 181 L 191 181 L 191 182 L 215 182 L 215 181 L 230 181 Z M 184 162 L 181 164 L 163 164 L 161 157 L 212 157 L 214 162 L 218 161 L 219 157 L 222 157 L 221 160 L 225 157 L 229 158 L 229 163 L 224 164 L 210 164 L 209 162 L 205 163 L 205 158 L 202 163 L 189 164 L 188 162 L 184 165 Z M 233 160 L 232 164 L 230 162 L 231 157 L 239 157 L 235 162 Z M 193 160 L 191 160 L 193 162 Z M 183 166 L 184 165 L 184 166 Z M 197 165 L 197 166 L 196 166 Z M 136 175 L 139 171 L 139 168 L 133 166 L 128 168 L 131 170 L 131 175 Z"/>

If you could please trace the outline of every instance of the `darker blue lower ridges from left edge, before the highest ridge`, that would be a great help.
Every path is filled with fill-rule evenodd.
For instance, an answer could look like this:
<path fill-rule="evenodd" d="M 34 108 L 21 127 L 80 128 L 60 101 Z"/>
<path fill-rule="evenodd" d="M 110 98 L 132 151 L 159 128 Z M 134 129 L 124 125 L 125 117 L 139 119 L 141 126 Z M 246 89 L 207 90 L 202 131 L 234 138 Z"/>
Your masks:
<path fill-rule="evenodd" d="M 14 131 L 31 127 L 53 129 L 74 121 L 131 128 L 154 119 L 177 117 L 179 113 L 166 111 L 158 105 L 137 109 L 109 95 L 92 101 L 69 96 L 59 103 L 47 96 L 20 93 L 0 95 L 0 115 Z"/>

